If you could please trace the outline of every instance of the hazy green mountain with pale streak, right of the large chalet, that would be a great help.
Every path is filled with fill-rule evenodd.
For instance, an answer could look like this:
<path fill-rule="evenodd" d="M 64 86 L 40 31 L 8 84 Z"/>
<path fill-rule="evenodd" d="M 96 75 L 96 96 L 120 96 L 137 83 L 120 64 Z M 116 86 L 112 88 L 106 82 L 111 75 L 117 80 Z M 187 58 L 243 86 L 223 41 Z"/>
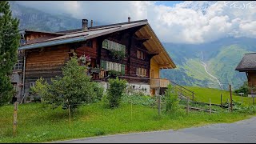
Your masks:
<path fill-rule="evenodd" d="M 235 68 L 244 54 L 256 50 L 255 40 L 255 38 L 222 38 L 215 42 L 197 45 L 163 43 L 177 68 L 161 70 L 162 78 L 168 78 L 183 86 L 228 90 L 231 84 L 234 89 L 238 89 L 247 78 L 245 73 L 240 73 Z"/>

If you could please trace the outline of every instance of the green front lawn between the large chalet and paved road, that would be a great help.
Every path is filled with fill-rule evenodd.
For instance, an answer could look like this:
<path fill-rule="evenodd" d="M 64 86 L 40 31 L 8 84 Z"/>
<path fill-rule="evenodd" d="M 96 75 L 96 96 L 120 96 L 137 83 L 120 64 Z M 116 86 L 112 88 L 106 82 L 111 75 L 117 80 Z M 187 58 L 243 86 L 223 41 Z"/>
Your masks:
<path fill-rule="evenodd" d="M 114 110 L 101 103 L 81 106 L 71 117 L 66 110 L 52 110 L 42 103 L 18 105 L 18 134 L 13 138 L 14 106 L 0 107 L 0 142 L 51 142 L 107 134 L 124 134 L 151 130 L 177 130 L 216 122 L 236 122 L 250 114 L 190 112 L 185 110 L 158 117 L 158 110 L 148 106 L 124 104 Z"/>

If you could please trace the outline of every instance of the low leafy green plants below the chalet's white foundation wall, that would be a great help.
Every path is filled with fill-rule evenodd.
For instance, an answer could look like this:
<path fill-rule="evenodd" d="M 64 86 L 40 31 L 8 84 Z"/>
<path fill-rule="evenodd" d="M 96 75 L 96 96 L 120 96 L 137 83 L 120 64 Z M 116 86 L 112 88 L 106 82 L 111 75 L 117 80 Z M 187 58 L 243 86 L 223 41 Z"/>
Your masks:
<path fill-rule="evenodd" d="M 122 102 L 141 106 L 155 106 L 155 98 L 145 95 L 141 91 L 137 91 L 132 94 L 124 94 L 122 97 Z"/>

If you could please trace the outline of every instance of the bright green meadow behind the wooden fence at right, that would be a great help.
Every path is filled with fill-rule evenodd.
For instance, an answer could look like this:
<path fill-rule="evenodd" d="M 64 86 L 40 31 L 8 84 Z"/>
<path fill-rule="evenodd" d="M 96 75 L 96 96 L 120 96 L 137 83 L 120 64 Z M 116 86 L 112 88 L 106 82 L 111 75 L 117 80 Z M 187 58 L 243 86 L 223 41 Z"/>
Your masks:
<path fill-rule="evenodd" d="M 186 86 L 186 88 L 188 90 L 194 91 L 195 97 L 196 97 L 195 100 L 198 102 L 209 103 L 209 98 L 210 98 L 211 103 L 221 104 L 221 94 L 222 94 L 222 103 L 227 102 L 227 98 L 229 98 L 229 102 L 230 102 L 230 91 L 196 87 L 196 86 Z M 247 106 L 253 104 L 253 98 L 241 97 L 234 93 L 232 94 L 232 98 L 235 102 L 241 102 Z"/>

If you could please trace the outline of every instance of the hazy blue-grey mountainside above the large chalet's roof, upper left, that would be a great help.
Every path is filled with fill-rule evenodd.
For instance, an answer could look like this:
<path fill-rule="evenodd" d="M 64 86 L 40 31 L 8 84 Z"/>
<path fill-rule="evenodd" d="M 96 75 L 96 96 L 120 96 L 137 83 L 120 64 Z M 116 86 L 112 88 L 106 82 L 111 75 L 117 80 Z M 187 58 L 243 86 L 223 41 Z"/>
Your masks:
<path fill-rule="evenodd" d="M 65 14 L 48 14 L 40 10 L 19 5 L 15 1 L 10 1 L 10 10 L 14 18 L 20 20 L 19 29 L 42 30 L 42 31 L 62 31 L 78 29 L 82 27 L 82 20 L 72 18 Z M 94 22 L 94 26 L 103 23 Z"/>

